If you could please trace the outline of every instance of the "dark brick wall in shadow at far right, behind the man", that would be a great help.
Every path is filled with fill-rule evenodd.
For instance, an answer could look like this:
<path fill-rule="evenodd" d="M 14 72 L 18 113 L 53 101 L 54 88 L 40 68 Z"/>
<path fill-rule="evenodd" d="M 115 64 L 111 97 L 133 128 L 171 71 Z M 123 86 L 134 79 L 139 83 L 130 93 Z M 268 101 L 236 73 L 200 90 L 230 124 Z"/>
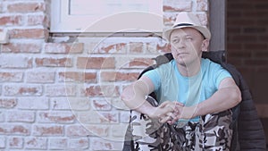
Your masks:
<path fill-rule="evenodd" d="M 268 1 L 236 0 L 227 5 L 228 62 L 242 72 L 256 103 L 268 103 Z"/>

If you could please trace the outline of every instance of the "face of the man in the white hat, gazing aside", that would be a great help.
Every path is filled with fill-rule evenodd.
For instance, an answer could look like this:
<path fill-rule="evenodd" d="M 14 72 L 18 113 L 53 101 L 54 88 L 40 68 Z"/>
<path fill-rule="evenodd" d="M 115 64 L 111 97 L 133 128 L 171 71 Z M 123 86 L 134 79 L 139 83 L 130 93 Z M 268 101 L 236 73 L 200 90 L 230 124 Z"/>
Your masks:
<path fill-rule="evenodd" d="M 171 34 L 172 55 L 180 65 L 200 62 L 202 51 L 206 51 L 208 40 L 197 29 L 174 29 Z"/>

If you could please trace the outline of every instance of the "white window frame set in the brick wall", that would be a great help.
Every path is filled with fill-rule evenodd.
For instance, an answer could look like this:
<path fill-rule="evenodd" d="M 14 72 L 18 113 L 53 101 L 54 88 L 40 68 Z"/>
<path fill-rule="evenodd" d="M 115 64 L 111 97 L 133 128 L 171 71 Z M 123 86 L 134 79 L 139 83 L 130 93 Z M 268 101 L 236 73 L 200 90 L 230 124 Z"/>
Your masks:
<path fill-rule="evenodd" d="M 70 0 L 51 1 L 50 32 L 162 32 L 163 0 L 148 0 L 150 13 L 123 12 L 110 16 L 70 15 Z"/>

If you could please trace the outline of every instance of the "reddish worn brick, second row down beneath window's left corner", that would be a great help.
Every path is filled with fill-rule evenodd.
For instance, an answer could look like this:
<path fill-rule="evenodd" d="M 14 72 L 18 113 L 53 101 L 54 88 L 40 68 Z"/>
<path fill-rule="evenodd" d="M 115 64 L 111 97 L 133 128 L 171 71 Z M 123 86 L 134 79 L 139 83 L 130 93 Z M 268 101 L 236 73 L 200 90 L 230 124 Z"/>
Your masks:
<path fill-rule="evenodd" d="M 71 58 L 51 58 L 51 57 L 43 57 L 36 58 L 35 63 L 38 67 L 71 67 L 72 60 Z"/>

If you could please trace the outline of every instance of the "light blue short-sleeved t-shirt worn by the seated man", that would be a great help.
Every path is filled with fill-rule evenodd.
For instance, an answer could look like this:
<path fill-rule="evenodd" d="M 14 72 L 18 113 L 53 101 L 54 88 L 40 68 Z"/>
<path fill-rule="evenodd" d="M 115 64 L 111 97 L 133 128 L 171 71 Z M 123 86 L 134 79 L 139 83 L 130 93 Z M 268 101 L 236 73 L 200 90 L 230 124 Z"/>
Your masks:
<path fill-rule="evenodd" d="M 144 76 L 152 80 L 160 104 L 168 100 L 178 101 L 185 106 L 196 105 L 209 98 L 223 79 L 231 77 L 220 64 L 203 58 L 201 70 L 193 77 L 182 76 L 174 60 L 147 71 Z M 191 121 L 197 122 L 198 119 L 196 117 Z"/>

